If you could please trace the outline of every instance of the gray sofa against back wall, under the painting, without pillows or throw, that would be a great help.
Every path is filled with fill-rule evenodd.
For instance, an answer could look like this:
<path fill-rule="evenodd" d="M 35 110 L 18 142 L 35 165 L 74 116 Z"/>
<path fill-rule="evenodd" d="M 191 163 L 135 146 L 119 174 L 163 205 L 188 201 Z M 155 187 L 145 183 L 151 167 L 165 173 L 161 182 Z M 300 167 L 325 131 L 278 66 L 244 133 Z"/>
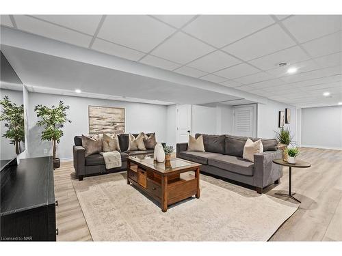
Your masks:
<path fill-rule="evenodd" d="M 151 133 L 147 135 L 150 136 Z M 137 137 L 138 134 L 133 134 L 134 137 Z M 118 134 L 119 144 L 120 144 L 120 155 L 122 165 L 118 168 L 113 168 L 107 170 L 105 168 L 105 159 L 101 154 L 92 154 L 86 157 L 86 151 L 82 146 L 82 137 L 75 136 L 73 146 L 73 158 L 74 158 L 74 168 L 76 171 L 77 177 L 79 180 L 83 180 L 84 176 L 101 174 L 101 173 L 109 173 L 109 172 L 117 172 L 124 171 L 127 168 L 127 156 L 133 156 L 136 154 L 150 154 L 153 153 L 154 150 L 146 150 L 146 151 L 128 151 L 129 147 L 129 134 Z"/>

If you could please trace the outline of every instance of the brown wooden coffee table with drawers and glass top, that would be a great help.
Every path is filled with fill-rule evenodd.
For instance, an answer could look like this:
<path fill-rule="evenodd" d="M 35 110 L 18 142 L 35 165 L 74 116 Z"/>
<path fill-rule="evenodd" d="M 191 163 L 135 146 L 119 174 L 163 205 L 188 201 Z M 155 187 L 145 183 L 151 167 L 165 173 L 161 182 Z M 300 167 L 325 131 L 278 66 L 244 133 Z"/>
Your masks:
<path fill-rule="evenodd" d="M 189 175 L 190 171 L 195 172 Z M 127 184 L 133 184 L 150 195 L 166 212 L 168 205 L 193 195 L 200 198 L 200 164 L 180 158 L 156 162 L 153 154 L 127 158 Z"/>

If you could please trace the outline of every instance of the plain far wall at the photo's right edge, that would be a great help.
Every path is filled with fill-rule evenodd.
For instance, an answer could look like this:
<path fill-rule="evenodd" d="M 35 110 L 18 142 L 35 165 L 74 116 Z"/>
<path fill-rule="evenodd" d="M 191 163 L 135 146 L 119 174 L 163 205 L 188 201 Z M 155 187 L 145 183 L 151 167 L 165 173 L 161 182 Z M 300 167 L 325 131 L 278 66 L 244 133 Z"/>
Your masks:
<path fill-rule="evenodd" d="M 342 150 L 342 106 L 302 109 L 302 146 Z"/>

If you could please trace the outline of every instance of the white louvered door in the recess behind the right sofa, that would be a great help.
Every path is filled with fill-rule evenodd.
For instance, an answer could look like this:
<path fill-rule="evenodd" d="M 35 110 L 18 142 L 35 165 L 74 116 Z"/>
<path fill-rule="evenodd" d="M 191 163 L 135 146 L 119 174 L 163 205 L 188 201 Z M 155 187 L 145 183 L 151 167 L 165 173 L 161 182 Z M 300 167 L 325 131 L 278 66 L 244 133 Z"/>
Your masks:
<path fill-rule="evenodd" d="M 233 107 L 233 134 L 237 136 L 256 137 L 257 118 L 255 105 Z"/>

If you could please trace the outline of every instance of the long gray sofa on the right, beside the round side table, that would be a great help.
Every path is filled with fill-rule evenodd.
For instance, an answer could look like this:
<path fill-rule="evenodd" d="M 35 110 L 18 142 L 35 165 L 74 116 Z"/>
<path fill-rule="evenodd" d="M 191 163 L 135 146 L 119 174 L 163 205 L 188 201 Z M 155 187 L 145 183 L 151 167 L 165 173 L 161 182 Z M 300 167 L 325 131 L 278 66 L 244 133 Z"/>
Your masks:
<path fill-rule="evenodd" d="M 200 135 L 196 134 L 196 139 Z M 266 186 L 278 184 L 282 177 L 282 167 L 272 160 L 281 158 L 282 151 L 277 150 L 276 139 L 261 139 L 264 152 L 254 154 L 254 162 L 250 162 L 242 158 L 248 137 L 202 135 L 205 152 L 190 152 L 187 151 L 187 143 L 177 143 L 176 156 L 202 164 L 200 171 L 205 173 L 254 186 L 260 194 Z"/>

